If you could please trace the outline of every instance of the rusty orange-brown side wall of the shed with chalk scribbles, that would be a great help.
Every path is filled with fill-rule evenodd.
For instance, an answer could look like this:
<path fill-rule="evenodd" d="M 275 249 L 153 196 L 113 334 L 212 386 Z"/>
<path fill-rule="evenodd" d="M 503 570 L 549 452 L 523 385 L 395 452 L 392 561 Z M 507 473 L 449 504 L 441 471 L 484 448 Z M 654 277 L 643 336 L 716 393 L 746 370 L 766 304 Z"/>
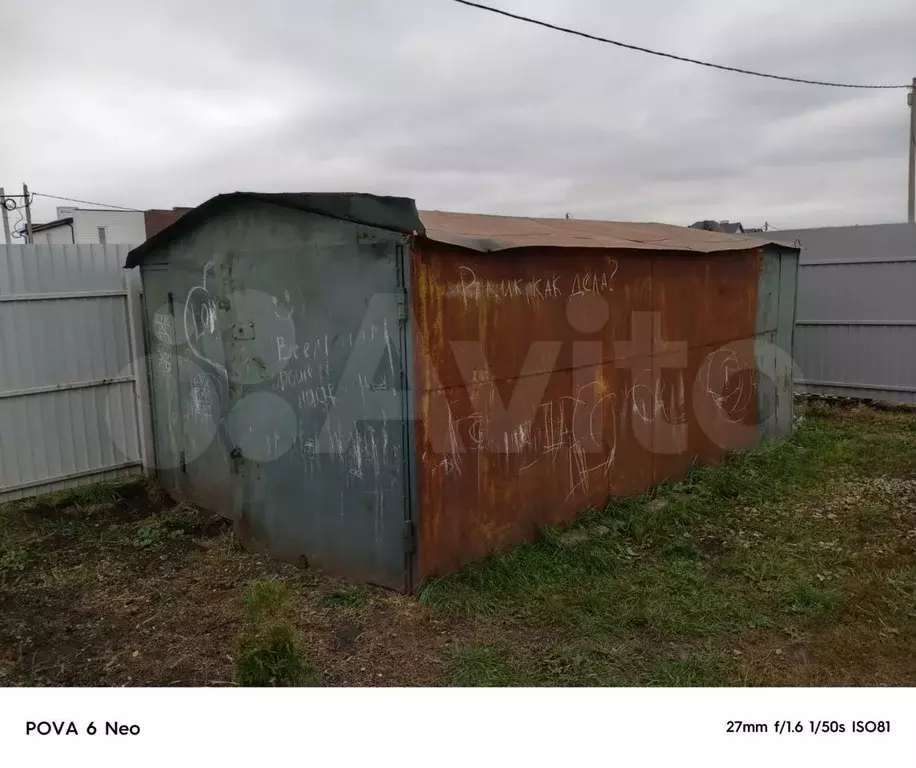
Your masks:
<path fill-rule="evenodd" d="M 419 578 L 753 444 L 762 263 L 416 243 Z"/>

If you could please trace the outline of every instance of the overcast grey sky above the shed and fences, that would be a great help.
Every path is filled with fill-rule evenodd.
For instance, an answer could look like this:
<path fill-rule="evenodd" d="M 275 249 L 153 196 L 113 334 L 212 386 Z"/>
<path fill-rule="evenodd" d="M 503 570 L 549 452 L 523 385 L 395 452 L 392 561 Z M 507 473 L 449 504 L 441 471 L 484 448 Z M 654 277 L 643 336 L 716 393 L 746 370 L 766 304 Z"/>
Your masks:
<path fill-rule="evenodd" d="M 777 74 L 916 76 L 913 0 L 492 0 Z M 138 208 L 369 191 L 575 218 L 901 221 L 906 91 L 624 51 L 450 0 L 6 0 L 0 184 Z M 35 219 L 58 203 L 36 203 Z M 15 216 L 14 216 L 15 220 Z"/>

